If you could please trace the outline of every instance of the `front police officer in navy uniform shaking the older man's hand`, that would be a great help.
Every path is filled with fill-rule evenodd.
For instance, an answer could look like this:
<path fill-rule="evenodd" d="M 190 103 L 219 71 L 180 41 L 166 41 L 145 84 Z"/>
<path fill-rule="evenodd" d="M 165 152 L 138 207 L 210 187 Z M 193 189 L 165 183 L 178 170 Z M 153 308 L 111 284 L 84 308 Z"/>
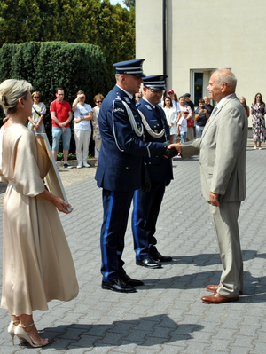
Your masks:
<path fill-rule="evenodd" d="M 144 129 L 134 99 L 145 77 L 143 61 L 113 64 L 116 85 L 104 99 L 98 119 L 102 146 L 95 178 L 103 188 L 102 288 L 118 292 L 135 292 L 135 286 L 143 285 L 129 278 L 121 260 L 130 203 L 134 191 L 144 185 L 143 157 L 176 155 L 176 149 L 168 150 L 168 144 L 143 141 Z"/>

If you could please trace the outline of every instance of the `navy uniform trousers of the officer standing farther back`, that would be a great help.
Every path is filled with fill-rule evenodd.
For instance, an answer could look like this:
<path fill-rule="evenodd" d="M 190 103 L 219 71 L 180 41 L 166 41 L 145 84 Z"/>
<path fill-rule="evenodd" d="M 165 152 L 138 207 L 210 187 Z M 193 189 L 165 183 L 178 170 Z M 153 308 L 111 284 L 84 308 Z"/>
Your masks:
<path fill-rule="evenodd" d="M 152 182 L 149 192 L 138 190 L 134 193 L 132 233 L 137 260 L 149 258 L 149 249 L 157 244 L 154 233 L 165 186 L 165 181 Z"/>

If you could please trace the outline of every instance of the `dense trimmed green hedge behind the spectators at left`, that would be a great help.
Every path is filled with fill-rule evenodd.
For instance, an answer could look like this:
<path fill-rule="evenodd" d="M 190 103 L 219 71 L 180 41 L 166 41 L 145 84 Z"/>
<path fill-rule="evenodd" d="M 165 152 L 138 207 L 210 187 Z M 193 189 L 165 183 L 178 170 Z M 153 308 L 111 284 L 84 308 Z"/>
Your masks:
<path fill-rule="evenodd" d="M 47 107 L 44 125 L 51 140 L 49 107 L 57 87 L 65 90 L 72 105 L 78 90 L 86 93 L 86 103 L 94 106 L 97 93 L 110 89 L 106 59 L 100 48 L 87 43 L 28 42 L 4 44 L 0 49 L 0 83 L 6 79 L 25 79 L 40 91 Z M 73 123 L 72 123 L 73 125 Z M 74 137 L 71 152 L 75 152 Z"/>

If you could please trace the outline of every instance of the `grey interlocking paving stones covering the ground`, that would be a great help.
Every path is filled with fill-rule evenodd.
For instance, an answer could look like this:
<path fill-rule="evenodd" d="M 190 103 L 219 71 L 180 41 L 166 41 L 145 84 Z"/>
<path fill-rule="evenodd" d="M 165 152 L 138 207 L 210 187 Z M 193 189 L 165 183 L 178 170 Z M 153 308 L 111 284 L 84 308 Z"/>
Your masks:
<path fill-rule="evenodd" d="M 0 352 L 83 353 L 233 353 L 262 354 L 266 348 L 266 149 L 247 146 L 247 197 L 239 228 L 244 259 L 244 295 L 239 302 L 208 305 L 208 284 L 218 284 L 221 262 L 207 202 L 200 196 L 199 156 L 173 163 L 157 224 L 158 248 L 173 262 L 147 270 L 135 264 L 130 223 L 123 259 L 129 276 L 145 281 L 137 293 L 102 290 L 99 232 L 101 190 L 96 168 L 60 169 L 74 207 L 60 215 L 69 242 L 80 293 L 69 303 L 52 301 L 49 311 L 35 311 L 35 323 L 50 345 L 43 349 L 15 345 L 7 334 L 9 316 L 0 310 Z M 3 185 L 0 194 L 3 199 Z M 0 217 L 2 221 L 2 208 Z M 2 255 L 2 237 L 0 243 Z M 0 264 L 2 275 L 2 260 Z"/>

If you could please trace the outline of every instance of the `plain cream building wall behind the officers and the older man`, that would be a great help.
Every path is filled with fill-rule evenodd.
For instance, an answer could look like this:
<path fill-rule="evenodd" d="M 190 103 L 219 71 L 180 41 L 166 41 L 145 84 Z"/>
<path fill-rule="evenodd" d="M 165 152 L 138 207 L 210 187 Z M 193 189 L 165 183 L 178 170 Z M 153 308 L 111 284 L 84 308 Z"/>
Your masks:
<path fill-rule="evenodd" d="M 266 1 L 167 0 L 168 89 L 192 90 L 191 70 L 231 68 L 237 95 L 250 106 L 257 92 L 266 101 Z M 137 58 L 145 74 L 161 74 L 162 0 L 136 0 Z"/>

